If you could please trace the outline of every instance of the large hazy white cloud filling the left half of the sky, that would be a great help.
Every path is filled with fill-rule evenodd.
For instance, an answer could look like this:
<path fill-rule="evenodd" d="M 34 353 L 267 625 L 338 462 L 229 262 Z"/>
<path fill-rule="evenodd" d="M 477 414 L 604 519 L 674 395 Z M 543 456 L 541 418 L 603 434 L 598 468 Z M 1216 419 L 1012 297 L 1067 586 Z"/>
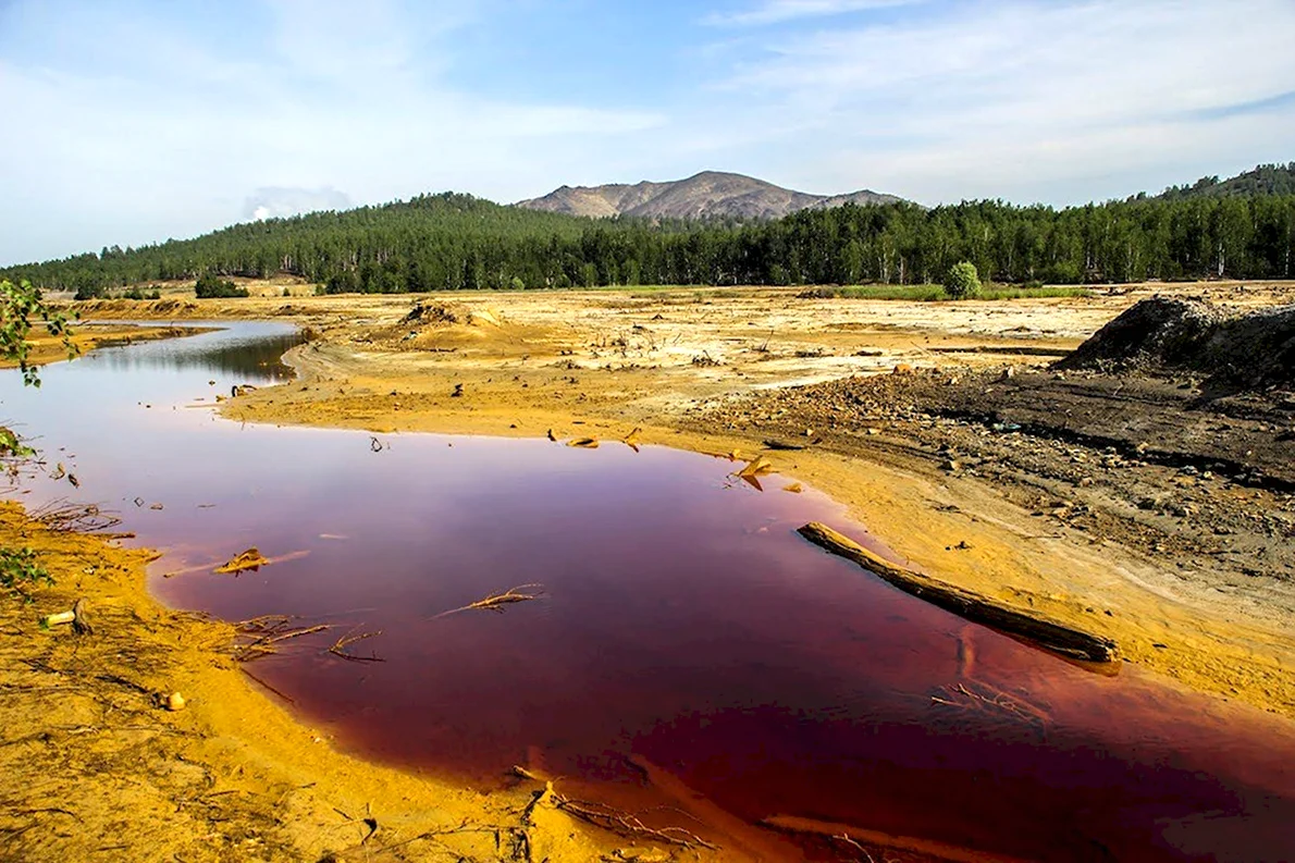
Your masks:
<path fill-rule="evenodd" d="M 262 53 L 224 51 L 155 19 L 65 16 L 25 25 L 60 62 L 0 52 L 0 264 L 192 236 L 253 216 L 457 189 L 497 200 L 666 123 L 654 111 L 483 98 L 447 83 L 471 4 L 273 0 Z M 422 18 L 430 18 L 429 22 Z M 21 32 L 14 32 L 21 38 Z M 92 62 L 76 58 L 95 52 Z M 67 57 L 73 58 L 69 60 Z M 534 181 L 534 179 L 531 180 Z M 286 198 L 259 200 L 267 189 Z"/>

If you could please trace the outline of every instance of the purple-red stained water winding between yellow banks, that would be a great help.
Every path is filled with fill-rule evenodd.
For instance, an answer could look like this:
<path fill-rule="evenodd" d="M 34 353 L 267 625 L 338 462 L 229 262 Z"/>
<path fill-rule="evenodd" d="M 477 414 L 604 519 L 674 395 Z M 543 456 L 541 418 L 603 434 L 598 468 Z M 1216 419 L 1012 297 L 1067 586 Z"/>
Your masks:
<path fill-rule="evenodd" d="M 170 549 L 164 601 L 332 625 L 249 667 L 343 748 L 482 788 L 530 766 L 627 806 L 671 802 L 646 780 L 660 768 L 749 823 L 979 859 L 1295 857 L 1295 723 L 1097 675 L 903 595 L 796 536 L 864 531 L 782 477 L 761 494 L 728 461 L 610 443 L 376 450 L 205 409 L 281 378 L 295 338 L 236 324 L 107 349 L 48 367 L 39 394 L 0 374 L 0 419 L 80 481 L 31 482 L 31 503 L 100 501 Z M 284 560 L 210 573 L 253 546 Z M 541 595 L 443 616 L 523 584 Z M 377 631 L 347 649 L 381 662 L 328 652 Z"/>

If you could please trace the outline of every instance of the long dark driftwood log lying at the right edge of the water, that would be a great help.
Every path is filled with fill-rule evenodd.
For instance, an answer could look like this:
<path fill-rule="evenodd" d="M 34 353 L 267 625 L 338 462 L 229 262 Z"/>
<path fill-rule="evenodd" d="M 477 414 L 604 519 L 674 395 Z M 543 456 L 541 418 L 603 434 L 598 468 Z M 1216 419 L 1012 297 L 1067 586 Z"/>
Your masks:
<path fill-rule="evenodd" d="M 1000 630 L 1072 660 L 1112 662 L 1116 658 L 1115 641 L 1050 621 L 1036 612 L 1014 608 L 998 600 L 973 593 L 930 575 L 897 566 L 874 555 L 848 536 L 816 521 L 798 531 L 802 536 L 833 555 L 852 560 L 870 573 L 875 573 L 905 593 L 912 593 L 932 605 L 952 612 L 969 621 Z"/>

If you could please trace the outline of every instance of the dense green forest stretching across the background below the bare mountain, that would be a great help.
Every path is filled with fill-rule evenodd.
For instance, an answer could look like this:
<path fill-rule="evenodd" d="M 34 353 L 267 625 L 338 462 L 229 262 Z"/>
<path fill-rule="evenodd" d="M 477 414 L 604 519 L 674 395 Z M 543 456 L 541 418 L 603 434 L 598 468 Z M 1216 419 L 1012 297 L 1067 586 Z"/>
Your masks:
<path fill-rule="evenodd" d="M 300 276 L 329 293 L 602 285 L 927 284 L 971 262 L 1006 284 L 1290 279 L 1291 166 L 1269 180 L 1054 209 L 847 205 L 776 222 L 583 219 L 443 193 L 0 270 L 80 298 L 174 279 Z M 1255 172 L 1251 172 L 1255 174 Z M 1272 179 L 1276 178 L 1276 179 Z M 1228 185 L 1232 184 L 1232 185 Z M 1226 187 L 1220 193 L 1216 187 Z"/>

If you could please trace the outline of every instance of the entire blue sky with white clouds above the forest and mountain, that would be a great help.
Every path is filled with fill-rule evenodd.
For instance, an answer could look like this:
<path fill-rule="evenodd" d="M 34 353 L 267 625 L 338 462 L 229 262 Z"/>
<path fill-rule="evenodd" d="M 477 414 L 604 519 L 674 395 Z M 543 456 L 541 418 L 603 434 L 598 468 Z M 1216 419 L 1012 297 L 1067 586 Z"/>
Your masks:
<path fill-rule="evenodd" d="M 1083 203 L 1295 159 L 1292 0 L 0 0 L 0 266 L 425 192 Z"/>

